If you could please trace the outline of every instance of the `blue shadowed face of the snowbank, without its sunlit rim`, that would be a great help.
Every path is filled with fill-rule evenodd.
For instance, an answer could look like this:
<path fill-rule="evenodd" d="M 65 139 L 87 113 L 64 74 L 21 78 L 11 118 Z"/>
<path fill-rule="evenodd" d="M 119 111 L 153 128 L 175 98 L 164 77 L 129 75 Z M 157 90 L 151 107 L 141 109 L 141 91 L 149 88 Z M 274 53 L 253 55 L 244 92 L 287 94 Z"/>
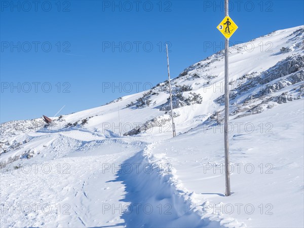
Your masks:
<path fill-rule="evenodd" d="M 202 219 L 193 210 L 187 193 L 174 185 L 170 164 L 150 163 L 145 156 L 148 148 L 126 160 L 115 180 L 126 185 L 123 202 L 129 206 L 122 216 L 126 226 L 222 227 L 220 219 Z M 131 171 L 129 167 L 134 169 Z"/>

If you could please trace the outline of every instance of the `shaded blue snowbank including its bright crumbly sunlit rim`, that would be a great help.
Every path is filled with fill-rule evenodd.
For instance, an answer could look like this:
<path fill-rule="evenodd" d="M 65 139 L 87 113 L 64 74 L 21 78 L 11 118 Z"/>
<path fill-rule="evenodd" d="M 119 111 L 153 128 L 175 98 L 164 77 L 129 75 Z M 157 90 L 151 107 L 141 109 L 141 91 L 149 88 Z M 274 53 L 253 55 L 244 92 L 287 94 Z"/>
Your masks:
<path fill-rule="evenodd" d="M 175 175 L 172 163 L 160 155 L 151 154 L 155 144 L 125 161 L 122 167 L 135 167 L 130 172 L 122 168 L 116 181 L 126 184 L 124 202 L 131 202 L 131 210 L 124 213 L 127 227 L 245 227 L 232 217 L 213 213 L 194 198 Z M 136 210 L 137 209 L 137 210 Z"/>

